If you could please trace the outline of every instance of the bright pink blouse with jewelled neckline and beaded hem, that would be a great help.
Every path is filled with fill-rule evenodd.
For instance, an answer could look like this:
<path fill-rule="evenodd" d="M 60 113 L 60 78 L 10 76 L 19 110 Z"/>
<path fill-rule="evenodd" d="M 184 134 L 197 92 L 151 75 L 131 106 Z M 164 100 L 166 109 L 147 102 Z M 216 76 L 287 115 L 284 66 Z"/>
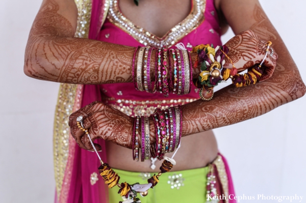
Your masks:
<path fill-rule="evenodd" d="M 221 45 L 214 2 L 191 0 L 191 3 L 190 14 L 163 38 L 159 38 L 123 16 L 118 2 L 111 1 L 107 20 L 97 40 L 134 47 L 149 45 L 176 48 L 177 43 L 183 43 L 188 50 L 199 44 L 213 44 L 215 47 Z M 100 91 L 102 100 L 106 104 L 116 107 L 127 115 L 150 115 L 156 107 L 167 108 L 199 99 L 199 89 L 194 85 L 188 95 L 170 94 L 167 98 L 159 93 L 136 91 L 133 83 L 102 84 Z"/>

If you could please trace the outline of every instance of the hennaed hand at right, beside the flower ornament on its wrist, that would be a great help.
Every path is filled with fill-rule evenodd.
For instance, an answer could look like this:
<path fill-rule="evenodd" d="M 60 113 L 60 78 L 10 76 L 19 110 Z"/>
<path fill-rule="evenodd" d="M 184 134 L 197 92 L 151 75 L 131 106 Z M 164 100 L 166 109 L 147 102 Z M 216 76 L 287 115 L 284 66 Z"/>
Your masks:
<path fill-rule="evenodd" d="M 276 42 L 274 42 L 276 43 Z M 254 32 L 248 30 L 240 33 L 228 41 L 225 45 L 228 47 L 228 57 L 232 60 L 238 72 L 249 69 L 255 65 L 259 65 L 266 54 L 267 42 L 261 40 Z M 268 52 L 268 56 L 264 61 L 262 68 L 264 73 L 261 81 L 272 76 L 276 66 L 277 54 L 270 56 L 272 49 Z M 225 68 L 232 68 L 230 60 L 225 59 Z"/>

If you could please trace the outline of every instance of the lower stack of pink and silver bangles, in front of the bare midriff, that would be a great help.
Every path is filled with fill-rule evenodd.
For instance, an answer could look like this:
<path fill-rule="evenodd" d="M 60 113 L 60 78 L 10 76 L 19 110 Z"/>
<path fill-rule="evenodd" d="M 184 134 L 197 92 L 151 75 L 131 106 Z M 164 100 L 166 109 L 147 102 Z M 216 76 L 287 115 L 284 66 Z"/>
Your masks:
<path fill-rule="evenodd" d="M 157 108 L 150 115 L 155 125 L 156 143 L 150 146 L 150 127 L 148 117 L 136 117 L 133 129 L 133 159 L 138 161 L 141 154 L 141 161 L 152 158 L 164 159 L 165 154 L 173 152 L 179 147 L 182 137 L 182 109 L 181 106 L 168 107 L 167 109 Z M 141 135 L 141 148 L 139 137 Z M 141 152 L 139 152 L 141 150 Z"/>

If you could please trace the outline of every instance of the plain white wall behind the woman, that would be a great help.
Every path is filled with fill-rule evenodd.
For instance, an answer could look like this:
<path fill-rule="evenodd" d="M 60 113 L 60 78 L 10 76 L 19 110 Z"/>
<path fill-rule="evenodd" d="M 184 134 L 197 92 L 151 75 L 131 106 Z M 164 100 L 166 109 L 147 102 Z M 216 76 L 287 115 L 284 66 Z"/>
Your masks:
<path fill-rule="evenodd" d="M 305 1 L 260 2 L 306 81 Z M 41 0 L 1 1 L 0 203 L 54 199 L 52 131 L 59 85 L 28 78 L 22 71 L 25 44 L 40 4 Z M 228 32 L 223 42 L 232 36 Z M 303 97 L 259 118 L 215 130 L 238 195 L 297 194 L 306 202 L 305 102 Z M 231 133 L 237 129 L 240 134 Z M 246 134 L 243 129 L 252 130 Z"/>

